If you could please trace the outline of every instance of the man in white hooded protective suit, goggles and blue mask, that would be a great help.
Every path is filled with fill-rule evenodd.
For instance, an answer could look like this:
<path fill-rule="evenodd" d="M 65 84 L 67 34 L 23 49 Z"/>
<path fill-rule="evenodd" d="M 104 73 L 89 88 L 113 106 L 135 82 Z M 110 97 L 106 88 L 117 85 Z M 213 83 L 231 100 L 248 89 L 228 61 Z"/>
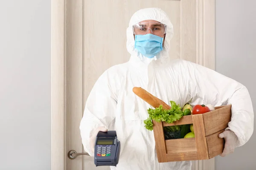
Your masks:
<path fill-rule="evenodd" d="M 84 149 L 93 156 L 99 131 L 116 130 L 121 142 L 119 164 L 111 170 L 189 170 L 191 161 L 158 163 L 154 133 L 144 127 L 146 102 L 132 89 L 142 87 L 169 104 L 189 102 L 214 106 L 232 104 L 222 156 L 245 144 L 253 133 L 253 107 L 247 88 L 201 65 L 170 59 L 173 26 L 159 8 L 137 11 L 127 28 L 129 62 L 115 65 L 97 80 L 84 109 L 80 130 Z M 122 55 L 120 55 L 122 57 Z"/>

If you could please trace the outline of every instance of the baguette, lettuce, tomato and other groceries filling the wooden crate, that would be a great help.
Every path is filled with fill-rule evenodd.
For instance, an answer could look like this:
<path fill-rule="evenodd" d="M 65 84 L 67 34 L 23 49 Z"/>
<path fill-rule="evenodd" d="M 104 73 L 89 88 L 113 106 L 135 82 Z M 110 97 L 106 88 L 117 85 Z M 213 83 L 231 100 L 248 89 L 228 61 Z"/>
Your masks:
<path fill-rule="evenodd" d="M 189 103 L 180 107 L 177 105 L 175 101 L 170 101 L 171 106 L 167 105 L 162 100 L 158 99 L 156 96 L 148 93 L 143 88 L 134 87 L 134 94 L 139 96 L 149 105 L 153 106 L 154 109 L 148 109 L 148 119 L 144 120 L 145 128 L 148 130 L 153 130 L 153 122 L 166 122 L 173 123 L 179 120 L 182 116 L 188 116 L 191 114 L 203 114 L 209 111 L 214 110 L 214 106 L 212 105 L 195 105 L 192 107 Z M 181 139 L 192 137 L 194 134 L 193 125 L 173 125 L 173 126 L 165 126 L 163 127 L 165 139 Z M 191 133 L 190 133 L 191 132 Z"/>

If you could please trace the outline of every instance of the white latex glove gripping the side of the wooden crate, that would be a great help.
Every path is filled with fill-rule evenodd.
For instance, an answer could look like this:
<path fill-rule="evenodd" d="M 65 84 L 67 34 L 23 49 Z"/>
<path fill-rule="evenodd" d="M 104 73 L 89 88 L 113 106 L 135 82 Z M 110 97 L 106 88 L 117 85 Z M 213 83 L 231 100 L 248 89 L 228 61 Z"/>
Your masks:
<path fill-rule="evenodd" d="M 236 134 L 231 130 L 225 130 L 224 132 L 220 133 L 219 138 L 225 139 L 224 150 L 220 156 L 227 156 L 230 153 L 233 153 L 238 142 Z"/>

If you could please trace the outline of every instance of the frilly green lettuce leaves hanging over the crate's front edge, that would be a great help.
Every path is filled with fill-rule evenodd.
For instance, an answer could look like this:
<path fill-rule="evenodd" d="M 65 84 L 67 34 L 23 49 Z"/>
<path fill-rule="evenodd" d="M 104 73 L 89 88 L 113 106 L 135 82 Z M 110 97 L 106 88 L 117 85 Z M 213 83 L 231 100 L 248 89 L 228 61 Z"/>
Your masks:
<path fill-rule="evenodd" d="M 146 129 L 153 130 L 152 120 L 156 122 L 167 122 L 172 123 L 179 120 L 183 116 L 183 111 L 181 111 L 180 105 L 177 105 L 174 101 L 170 101 L 171 109 L 163 109 L 163 105 L 160 105 L 155 109 L 148 109 L 149 117 L 144 120 Z M 178 128 L 178 127 L 175 127 Z"/>

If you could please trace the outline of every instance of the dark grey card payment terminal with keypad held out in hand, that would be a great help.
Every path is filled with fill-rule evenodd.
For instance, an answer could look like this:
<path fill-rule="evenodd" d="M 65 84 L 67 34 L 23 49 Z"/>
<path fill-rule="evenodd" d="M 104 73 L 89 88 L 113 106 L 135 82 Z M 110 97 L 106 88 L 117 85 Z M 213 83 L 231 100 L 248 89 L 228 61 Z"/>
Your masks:
<path fill-rule="evenodd" d="M 99 131 L 94 149 L 94 164 L 97 166 L 116 166 L 119 161 L 120 142 L 116 131 Z"/>

